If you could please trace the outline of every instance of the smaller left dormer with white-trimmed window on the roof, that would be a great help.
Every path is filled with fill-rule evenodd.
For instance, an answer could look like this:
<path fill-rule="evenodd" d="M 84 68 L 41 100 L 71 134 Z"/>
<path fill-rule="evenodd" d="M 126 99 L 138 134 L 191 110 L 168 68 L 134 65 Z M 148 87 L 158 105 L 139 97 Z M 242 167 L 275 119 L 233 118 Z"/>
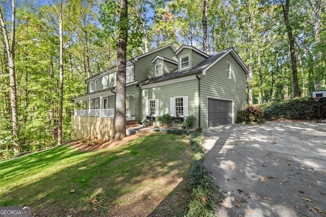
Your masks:
<path fill-rule="evenodd" d="M 156 56 L 151 63 L 153 64 L 154 68 L 154 77 L 159 77 L 161 75 L 168 74 L 175 70 L 178 66 L 178 63 L 174 60 L 160 56 Z"/>

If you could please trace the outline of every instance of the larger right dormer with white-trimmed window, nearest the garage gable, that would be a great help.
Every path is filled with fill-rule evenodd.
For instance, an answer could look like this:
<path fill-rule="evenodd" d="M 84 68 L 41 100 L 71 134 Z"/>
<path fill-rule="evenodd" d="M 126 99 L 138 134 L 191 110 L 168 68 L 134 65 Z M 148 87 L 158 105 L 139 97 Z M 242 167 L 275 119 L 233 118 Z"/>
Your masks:
<path fill-rule="evenodd" d="M 179 71 L 185 71 L 194 68 L 199 63 L 210 57 L 199 49 L 188 45 L 182 45 L 175 52 L 175 55 L 178 57 Z"/>

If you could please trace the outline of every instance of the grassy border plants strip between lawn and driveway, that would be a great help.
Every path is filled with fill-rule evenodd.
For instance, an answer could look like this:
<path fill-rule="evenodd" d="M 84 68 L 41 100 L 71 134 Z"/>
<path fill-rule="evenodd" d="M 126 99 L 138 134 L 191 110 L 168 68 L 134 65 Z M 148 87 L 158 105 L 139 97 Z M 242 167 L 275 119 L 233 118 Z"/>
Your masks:
<path fill-rule="evenodd" d="M 188 190 L 191 192 L 191 199 L 184 211 L 184 216 L 216 216 L 216 196 L 212 189 L 212 180 L 204 165 L 203 134 L 178 129 L 170 129 L 168 133 L 191 135 L 190 146 L 193 151 L 193 160 L 188 177 Z"/>

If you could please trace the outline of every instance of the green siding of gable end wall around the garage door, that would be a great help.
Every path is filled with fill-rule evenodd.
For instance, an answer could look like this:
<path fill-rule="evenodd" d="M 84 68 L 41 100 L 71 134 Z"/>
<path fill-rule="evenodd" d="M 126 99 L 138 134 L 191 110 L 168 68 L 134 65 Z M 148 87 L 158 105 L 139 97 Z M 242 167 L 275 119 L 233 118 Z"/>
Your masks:
<path fill-rule="evenodd" d="M 227 77 L 227 61 L 232 64 L 231 79 Z M 231 54 L 228 54 L 201 78 L 201 127 L 207 128 L 207 99 L 225 99 L 234 101 L 234 121 L 238 110 L 246 104 L 246 72 Z"/>

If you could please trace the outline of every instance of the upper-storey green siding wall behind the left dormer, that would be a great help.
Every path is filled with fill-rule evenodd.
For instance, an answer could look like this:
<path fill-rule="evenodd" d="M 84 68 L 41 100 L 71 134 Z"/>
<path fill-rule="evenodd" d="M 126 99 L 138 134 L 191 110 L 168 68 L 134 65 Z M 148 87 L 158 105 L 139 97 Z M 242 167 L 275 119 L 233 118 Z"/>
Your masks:
<path fill-rule="evenodd" d="M 170 59 L 172 59 L 172 57 L 175 56 L 174 51 L 171 49 L 171 47 L 167 47 L 138 59 L 135 62 L 135 66 L 134 66 L 135 80 L 137 80 L 138 82 L 143 82 L 144 80 L 153 76 L 154 64 L 152 64 L 151 61 L 157 55 L 160 57 L 167 57 Z"/>

